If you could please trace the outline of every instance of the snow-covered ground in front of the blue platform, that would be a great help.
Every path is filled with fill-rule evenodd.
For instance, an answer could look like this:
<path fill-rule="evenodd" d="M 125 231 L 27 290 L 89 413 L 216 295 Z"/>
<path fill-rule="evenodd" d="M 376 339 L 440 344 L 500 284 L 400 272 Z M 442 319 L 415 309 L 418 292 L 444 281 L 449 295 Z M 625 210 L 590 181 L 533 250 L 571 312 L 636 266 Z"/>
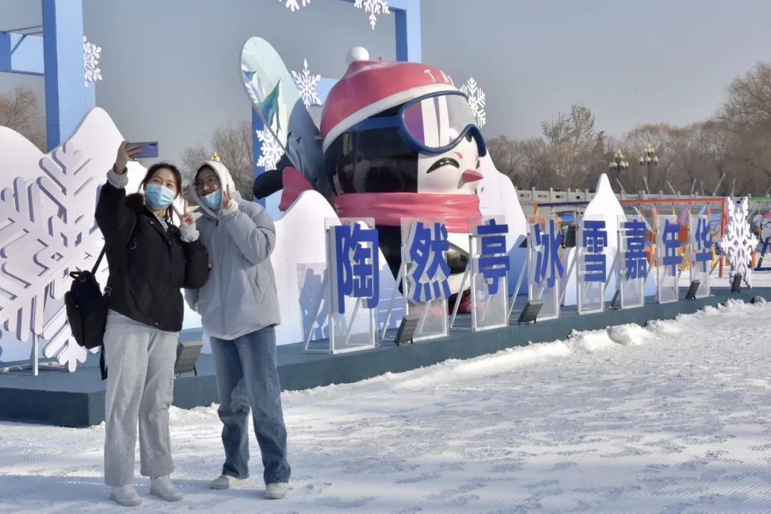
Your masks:
<path fill-rule="evenodd" d="M 214 406 L 173 409 L 179 503 L 135 512 L 771 512 L 771 305 L 284 394 L 292 486 L 214 492 Z M 0 423 L 0 512 L 123 512 L 103 426 Z M 261 476 L 252 442 L 254 477 Z"/>

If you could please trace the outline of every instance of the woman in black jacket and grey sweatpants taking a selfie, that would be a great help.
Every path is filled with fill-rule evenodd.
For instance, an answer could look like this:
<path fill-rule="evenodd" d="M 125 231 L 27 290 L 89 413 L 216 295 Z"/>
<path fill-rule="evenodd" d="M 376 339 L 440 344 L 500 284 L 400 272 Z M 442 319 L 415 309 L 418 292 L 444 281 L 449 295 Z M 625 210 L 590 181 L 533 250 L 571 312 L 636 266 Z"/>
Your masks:
<path fill-rule="evenodd" d="M 113 488 L 112 499 L 124 506 L 142 502 L 132 483 L 137 419 L 140 472 L 150 476 L 150 494 L 170 502 L 182 499 L 169 478 L 180 289 L 202 287 L 209 264 L 194 215 L 183 209 L 177 212 L 180 228 L 173 225 L 172 202 L 182 185 L 177 168 L 163 162 L 151 166 L 142 180 L 144 194 L 126 196 L 126 164 L 138 149 L 120 145 L 96 205 L 109 264 L 105 482 Z"/>

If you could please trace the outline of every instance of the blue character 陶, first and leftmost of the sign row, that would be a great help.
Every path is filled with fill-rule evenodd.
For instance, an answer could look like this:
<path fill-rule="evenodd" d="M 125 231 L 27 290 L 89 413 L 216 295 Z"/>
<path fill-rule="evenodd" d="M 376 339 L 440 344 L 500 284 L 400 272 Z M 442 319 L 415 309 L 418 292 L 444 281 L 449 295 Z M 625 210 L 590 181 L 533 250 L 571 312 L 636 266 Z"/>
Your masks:
<path fill-rule="evenodd" d="M 332 229 L 337 291 L 335 310 L 345 313 L 346 296 L 366 299 L 367 307 L 374 309 L 380 296 L 378 231 L 364 229 L 358 223 L 337 225 Z"/>

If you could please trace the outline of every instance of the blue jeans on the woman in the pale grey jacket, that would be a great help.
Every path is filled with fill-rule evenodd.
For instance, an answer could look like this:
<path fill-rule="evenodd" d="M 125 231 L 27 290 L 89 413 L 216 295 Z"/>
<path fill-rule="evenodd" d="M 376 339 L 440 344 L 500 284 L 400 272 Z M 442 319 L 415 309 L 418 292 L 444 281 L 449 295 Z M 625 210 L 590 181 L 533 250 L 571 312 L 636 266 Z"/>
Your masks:
<path fill-rule="evenodd" d="M 287 430 L 281 412 L 281 386 L 276 367 L 276 334 L 272 326 L 237 339 L 211 338 L 217 395 L 222 420 L 225 463 L 222 474 L 249 476 L 249 409 L 262 453 L 266 484 L 289 482 Z"/>

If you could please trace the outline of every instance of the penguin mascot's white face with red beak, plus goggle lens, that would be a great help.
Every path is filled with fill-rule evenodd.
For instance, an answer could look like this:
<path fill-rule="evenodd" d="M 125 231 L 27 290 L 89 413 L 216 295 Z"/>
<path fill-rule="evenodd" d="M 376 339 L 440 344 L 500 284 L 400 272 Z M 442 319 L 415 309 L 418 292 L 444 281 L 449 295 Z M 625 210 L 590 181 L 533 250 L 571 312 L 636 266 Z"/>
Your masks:
<path fill-rule="evenodd" d="M 429 148 L 442 148 L 456 141 L 466 128 L 468 121 L 458 122 L 461 117 L 456 114 L 466 111 L 470 113 L 465 98 L 436 96 L 410 107 L 405 118 L 410 132 L 419 133 Z M 419 129 L 413 131 L 412 127 Z M 418 192 L 472 195 L 482 179 L 480 168 L 476 139 L 466 132 L 466 136 L 447 152 L 418 155 Z"/>

